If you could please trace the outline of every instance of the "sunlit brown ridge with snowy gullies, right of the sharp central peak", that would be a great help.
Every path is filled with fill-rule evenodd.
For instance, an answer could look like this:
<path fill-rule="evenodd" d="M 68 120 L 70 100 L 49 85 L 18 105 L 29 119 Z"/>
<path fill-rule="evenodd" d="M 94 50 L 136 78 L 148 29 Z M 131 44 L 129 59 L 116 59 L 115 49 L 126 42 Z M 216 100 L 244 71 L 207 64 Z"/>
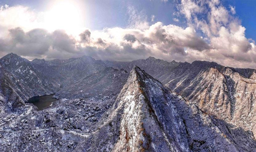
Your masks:
<path fill-rule="evenodd" d="M 181 63 L 170 73 L 162 82 L 171 90 L 256 137 L 255 70 L 195 61 Z"/>

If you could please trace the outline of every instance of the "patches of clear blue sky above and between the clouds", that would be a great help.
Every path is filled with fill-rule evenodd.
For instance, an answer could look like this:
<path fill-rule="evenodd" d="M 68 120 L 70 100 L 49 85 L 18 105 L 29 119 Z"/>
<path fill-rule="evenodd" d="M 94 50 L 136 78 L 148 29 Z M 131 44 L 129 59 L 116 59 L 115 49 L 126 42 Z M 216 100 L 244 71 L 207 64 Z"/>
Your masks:
<path fill-rule="evenodd" d="M 9 6 L 24 5 L 36 11 L 44 11 L 51 0 L 0 0 L 0 5 Z M 163 22 L 165 25 L 177 24 L 186 26 L 186 23 L 174 22 L 173 13 L 176 11 L 175 0 L 162 2 L 161 0 L 80 0 L 84 4 L 85 10 L 90 10 L 91 29 L 101 30 L 104 27 L 123 27 L 128 24 L 127 6 L 134 6 L 138 11 L 144 11 L 148 16 L 156 16 L 156 21 Z M 227 8 L 229 5 L 235 6 L 236 16 L 242 21 L 246 28 L 246 36 L 256 39 L 256 0 L 223 0 L 222 3 Z M 182 20 L 182 18 L 180 18 Z M 86 21 L 85 21 L 86 22 Z"/>

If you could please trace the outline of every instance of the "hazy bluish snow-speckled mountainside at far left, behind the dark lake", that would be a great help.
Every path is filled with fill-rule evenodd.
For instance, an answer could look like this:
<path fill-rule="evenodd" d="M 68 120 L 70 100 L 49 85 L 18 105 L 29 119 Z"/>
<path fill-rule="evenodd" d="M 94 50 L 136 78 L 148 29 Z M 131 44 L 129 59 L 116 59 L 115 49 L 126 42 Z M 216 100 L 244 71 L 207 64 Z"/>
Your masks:
<path fill-rule="evenodd" d="M 106 68 L 103 62 L 88 56 L 68 60 L 29 61 L 13 53 L 0 58 L 0 65 L 1 112 L 24 108 L 24 102 L 32 96 L 56 93 Z"/>

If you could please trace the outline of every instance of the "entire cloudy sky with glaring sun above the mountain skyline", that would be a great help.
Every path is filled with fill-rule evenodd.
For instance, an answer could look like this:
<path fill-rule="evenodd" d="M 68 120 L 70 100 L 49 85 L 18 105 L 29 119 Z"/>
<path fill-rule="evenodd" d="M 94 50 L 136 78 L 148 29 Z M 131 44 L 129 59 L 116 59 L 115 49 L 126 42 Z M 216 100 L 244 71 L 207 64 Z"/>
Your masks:
<path fill-rule="evenodd" d="M 0 0 L 0 57 L 256 68 L 255 8 L 253 0 Z"/>

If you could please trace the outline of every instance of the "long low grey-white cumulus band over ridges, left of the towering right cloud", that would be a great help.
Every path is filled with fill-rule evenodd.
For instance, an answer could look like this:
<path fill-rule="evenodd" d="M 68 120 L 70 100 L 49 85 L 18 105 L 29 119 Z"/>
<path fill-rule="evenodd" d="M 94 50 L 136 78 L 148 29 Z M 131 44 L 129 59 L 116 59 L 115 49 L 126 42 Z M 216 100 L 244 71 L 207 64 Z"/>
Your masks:
<path fill-rule="evenodd" d="M 47 32 L 21 28 L 9 30 L 10 39 L 2 40 L 2 52 L 15 52 L 34 58 L 71 58 L 90 55 L 102 60 L 136 60 L 156 56 L 166 60 L 182 60 L 188 56 L 185 48 L 203 51 L 210 46 L 190 27 L 164 26 L 161 22 L 148 29 L 106 28 L 85 30 L 80 39 L 62 30 Z M 86 43 L 85 43 L 86 42 Z"/>

